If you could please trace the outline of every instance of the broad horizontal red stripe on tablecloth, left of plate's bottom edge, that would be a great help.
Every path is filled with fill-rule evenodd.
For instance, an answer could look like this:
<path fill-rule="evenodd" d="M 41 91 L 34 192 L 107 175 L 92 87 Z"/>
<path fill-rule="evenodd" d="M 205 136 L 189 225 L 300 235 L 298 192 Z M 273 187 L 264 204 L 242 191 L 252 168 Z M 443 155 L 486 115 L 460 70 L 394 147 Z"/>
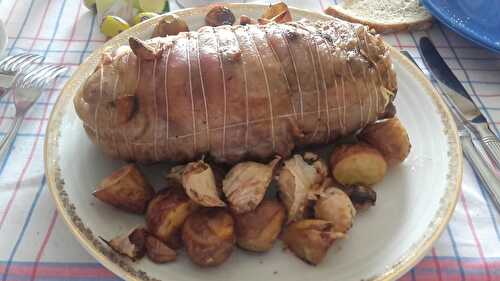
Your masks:
<path fill-rule="evenodd" d="M 5 272 L 5 265 L 0 265 L 0 274 Z M 31 276 L 33 268 L 31 265 L 12 264 L 9 267 L 9 274 L 17 276 Z M 47 266 L 40 264 L 38 266 L 37 277 L 89 277 L 89 278 L 110 278 L 115 275 L 103 266 L 80 267 L 78 265 Z"/>

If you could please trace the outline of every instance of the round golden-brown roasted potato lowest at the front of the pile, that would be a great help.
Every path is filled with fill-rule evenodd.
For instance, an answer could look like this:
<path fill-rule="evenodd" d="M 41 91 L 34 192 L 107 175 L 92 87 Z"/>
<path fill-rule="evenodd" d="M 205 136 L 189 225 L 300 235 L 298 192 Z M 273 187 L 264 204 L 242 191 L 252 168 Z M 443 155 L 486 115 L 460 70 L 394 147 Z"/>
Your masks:
<path fill-rule="evenodd" d="M 222 264 L 231 255 L 235 240 L 233 218 L 222 208 L 199 209 L 182 227 L 187 254 L 199 266 Z"/>

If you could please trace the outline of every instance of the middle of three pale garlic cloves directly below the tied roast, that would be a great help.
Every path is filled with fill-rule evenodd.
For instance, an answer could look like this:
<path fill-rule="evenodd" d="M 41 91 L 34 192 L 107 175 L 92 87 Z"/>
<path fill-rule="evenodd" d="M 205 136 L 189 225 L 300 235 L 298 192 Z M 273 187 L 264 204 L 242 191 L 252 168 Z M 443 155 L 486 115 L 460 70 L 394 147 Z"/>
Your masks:
<path fill-rule="evenodd" d="M 259 205 L 273 178 L 274 167 L 280 159 L 275 158 L 267 165 L 242 162 L 227 173 L 222 189 L 233 212 L 249 212 Z"/>

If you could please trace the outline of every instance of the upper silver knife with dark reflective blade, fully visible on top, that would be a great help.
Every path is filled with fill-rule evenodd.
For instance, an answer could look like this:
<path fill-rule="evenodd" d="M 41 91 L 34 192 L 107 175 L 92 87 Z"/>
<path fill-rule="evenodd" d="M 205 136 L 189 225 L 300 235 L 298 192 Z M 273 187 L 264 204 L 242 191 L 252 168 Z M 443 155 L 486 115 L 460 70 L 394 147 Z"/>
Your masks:
<path fill-rule="evenodd" d="M 469 93 L 458 81 L 431 40 L 427 37 L 420 38 L 418 47 L 424 63 L 438 81 L 442 91 L 450 99 L 451 105 L 457 111 L 459 118 L 479 140 L 494 168 L 500 171 L 500 140 L 489 128 L 486 118 L 476 107 Z"/>

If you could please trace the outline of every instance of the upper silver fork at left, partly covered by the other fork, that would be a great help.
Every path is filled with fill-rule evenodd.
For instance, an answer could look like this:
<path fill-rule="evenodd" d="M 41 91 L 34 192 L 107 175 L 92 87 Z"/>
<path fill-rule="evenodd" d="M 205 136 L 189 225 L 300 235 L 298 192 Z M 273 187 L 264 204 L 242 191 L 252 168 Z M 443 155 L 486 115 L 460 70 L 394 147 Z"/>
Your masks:
<path fill-rule="evenodd" d="M 23 71 L 34 63 L 43 61 L 43 57 L 35 54 L 21 53 L 8 56 L 0 61 L 0 98 L 7 94 L 13 77 L 17 72 Z"/>

